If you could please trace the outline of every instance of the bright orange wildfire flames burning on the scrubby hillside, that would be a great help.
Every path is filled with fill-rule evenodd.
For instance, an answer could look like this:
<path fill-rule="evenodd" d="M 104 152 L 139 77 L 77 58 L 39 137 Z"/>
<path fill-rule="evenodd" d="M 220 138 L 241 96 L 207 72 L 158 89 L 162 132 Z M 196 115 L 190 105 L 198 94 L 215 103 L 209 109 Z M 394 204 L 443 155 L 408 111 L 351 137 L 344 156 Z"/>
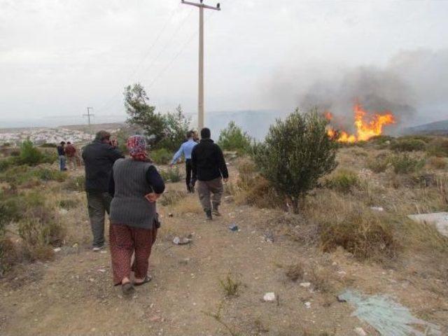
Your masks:
<path fill-rule="evenodd" d="M 383 126 L 395 123 L 395 118 L 391 111 L 384 111 L 384 113 L 369 113 L 363 109 L 361 104 L 353 106 L 355 113 L 356 134 L 349 134 L 341 130 L 335 130 L 333 127 L 328 127 L 328 135 L 339 142 L 353 143 L 356 141 L 366 141 L 376 135 L 381 135 Z M 325 118 L 332 120 L 333 116 L 330 112 L 325 112 Z"/>

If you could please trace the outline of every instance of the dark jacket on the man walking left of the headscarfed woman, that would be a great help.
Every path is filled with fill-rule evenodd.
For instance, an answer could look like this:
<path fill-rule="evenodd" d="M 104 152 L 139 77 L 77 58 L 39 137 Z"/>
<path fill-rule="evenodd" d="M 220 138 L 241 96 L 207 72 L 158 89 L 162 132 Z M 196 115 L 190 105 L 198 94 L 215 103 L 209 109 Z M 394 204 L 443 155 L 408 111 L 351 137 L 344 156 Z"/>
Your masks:
<path fill-rule="evenodd" d="M 85 146 L 85 191 L 107 193 L 113 162 L 120 158 L 124 156 L 116 148 L 102 141 L 94 140 Z"/>

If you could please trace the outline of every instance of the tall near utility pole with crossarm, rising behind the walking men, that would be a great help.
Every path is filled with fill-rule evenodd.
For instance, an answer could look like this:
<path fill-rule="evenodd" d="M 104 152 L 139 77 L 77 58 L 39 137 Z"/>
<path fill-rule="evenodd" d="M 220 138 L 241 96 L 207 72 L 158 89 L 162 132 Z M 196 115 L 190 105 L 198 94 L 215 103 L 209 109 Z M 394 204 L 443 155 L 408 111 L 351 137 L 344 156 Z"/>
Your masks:
<path fill-rule="evenodd" d="M 207 6 L 202 3 L 194 3 L 190 1 L 181 0 L 186 5 L 191 5 L 199 8 L 199 83 L 197 92 L 197 127 L 202 130 L 204 127 L 204 8 L 221 10 L 220 4 L 216 7 Z"/>

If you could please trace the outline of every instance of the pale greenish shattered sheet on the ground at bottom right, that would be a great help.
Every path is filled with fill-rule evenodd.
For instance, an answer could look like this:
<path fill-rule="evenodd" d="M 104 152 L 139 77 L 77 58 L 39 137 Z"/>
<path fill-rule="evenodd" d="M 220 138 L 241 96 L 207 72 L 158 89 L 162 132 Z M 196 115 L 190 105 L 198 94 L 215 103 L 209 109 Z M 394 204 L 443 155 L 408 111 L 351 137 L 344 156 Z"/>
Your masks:
<path fill-rule="evenodd" d="M 356 310 L 352 316 L 357 316 L 384 336 L 439 336 L 440 328 L 412 316 L 409 309 L 394 302 L 384 295 L 361 295 L 352 290 L 346 290 L 338 296 L 339 301 L 353 304 Z M 419 329 L 416 326 L 420 325 Z M 424 330 L 424 331 L 421 331 Z"/>

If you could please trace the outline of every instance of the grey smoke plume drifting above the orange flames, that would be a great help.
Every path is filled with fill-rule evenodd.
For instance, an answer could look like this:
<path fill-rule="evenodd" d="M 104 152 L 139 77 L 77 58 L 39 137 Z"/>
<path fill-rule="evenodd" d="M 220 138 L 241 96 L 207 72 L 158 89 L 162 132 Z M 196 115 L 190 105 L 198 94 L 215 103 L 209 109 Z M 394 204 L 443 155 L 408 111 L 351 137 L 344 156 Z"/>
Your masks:
<path fill-rule="evenodd" d="M 335 122 L 351 129 L 353 104 L 368 111 L 392 111 L 391 132 L 430 120 L 448 118 L 448 50 L 400 52 L 379 68 L 313 64 L 281 69 L 265 86 L 270 104 L 302 110 L 331 111 Z M 289 107 L 288 107 L 289 105 Z"/>

